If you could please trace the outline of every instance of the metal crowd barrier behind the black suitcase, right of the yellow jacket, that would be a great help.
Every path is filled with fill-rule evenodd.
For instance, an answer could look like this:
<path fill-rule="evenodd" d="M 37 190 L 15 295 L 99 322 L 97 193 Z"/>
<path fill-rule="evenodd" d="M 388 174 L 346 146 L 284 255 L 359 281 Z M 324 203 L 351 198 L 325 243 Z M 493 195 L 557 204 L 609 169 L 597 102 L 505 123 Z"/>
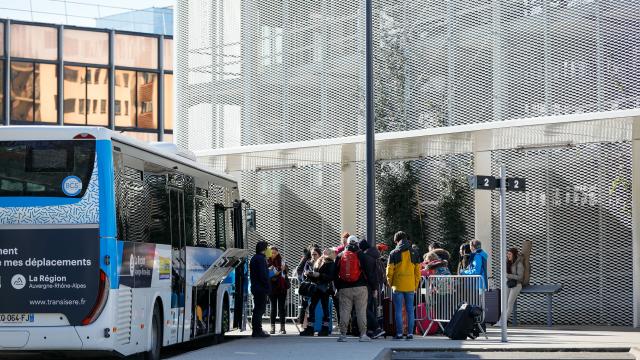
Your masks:
<path fill-rule="evenodd" d="M 481 320 L 483 322 L 485 308 L 483 284 L 484 280 L 479 275 L 423 277 L 415 294 L 416 324 L 423 332 L 423 336 L 429 332 L 434 322 L 444 331 L 442 323 L 449 322 L 463 302 L 480 306 L 483 310 Z M 419 304 L 425 304 L 424 312 L 419 311 Z M 422 325 L 425 320 L 429 321 L 426 329 Z"/>

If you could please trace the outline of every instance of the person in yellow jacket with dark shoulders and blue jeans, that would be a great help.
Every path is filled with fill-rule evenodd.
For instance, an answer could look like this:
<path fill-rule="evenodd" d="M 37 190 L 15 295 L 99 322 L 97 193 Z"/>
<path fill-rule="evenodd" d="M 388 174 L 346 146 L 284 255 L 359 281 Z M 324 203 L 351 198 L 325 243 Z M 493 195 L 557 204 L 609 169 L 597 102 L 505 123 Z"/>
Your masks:
<path fill-rule="evenodd" d="M 411 242 L 404 231 L 393 236 L 396 248 L 389 254 L 387 263 L 387 282 L 393 289 L 393 307 L 395 309 L 396 335 L 394 340 L 402 339 L 402 304 L 407 309 L 407 340 L 413 340 L 415 313 L 413 297 L 420 284 L 420 255 L 411 248 Z"/>

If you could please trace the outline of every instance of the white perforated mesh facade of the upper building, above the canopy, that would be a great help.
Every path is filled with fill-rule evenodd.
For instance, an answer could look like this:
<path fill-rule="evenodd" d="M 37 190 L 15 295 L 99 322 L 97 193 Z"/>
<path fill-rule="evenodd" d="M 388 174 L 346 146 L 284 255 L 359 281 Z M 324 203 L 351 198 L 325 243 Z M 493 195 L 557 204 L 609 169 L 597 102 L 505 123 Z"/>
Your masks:
<path fill-rule="evenodd" d="M 178 143 L 363 133 L 361 2 L 177 1 Z M 632 1 L 379 0 L 379 131 L 637 108 Z"/>

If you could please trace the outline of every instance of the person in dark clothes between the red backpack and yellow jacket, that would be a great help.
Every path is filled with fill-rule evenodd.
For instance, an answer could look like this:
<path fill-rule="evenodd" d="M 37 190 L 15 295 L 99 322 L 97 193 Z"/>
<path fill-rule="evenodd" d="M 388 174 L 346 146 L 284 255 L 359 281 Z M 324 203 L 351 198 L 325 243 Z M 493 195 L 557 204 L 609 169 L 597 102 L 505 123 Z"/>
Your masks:
<path fill-rule="evenodd" d="M 366 255 L 365 259 L 369 262 L 369 266 L 374 271 L 376 286 L 368 287 L 367 300 L 367 336 L 377 339 L 385 334 L 378 322 L 378 294 L 384 286 L 384 264 L 380 260 L 380 252 L 377 248 L 372 247 L 367 239 L 362 239 L 358 243 L 360 250 Z"/>

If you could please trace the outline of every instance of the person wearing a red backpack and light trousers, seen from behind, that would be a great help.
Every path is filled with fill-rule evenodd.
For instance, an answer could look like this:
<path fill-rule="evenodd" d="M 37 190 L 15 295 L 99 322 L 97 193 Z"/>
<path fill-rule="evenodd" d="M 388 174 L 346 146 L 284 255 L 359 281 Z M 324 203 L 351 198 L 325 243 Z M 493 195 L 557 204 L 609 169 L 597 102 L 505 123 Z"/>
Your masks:
<path fill-rule="evenodd" d="M 335 285 L 340 302 L 340 336 L 338 342 L 347 341 L 347 325 L 355 307 L 360 341 L 371 341 L 367 336 L 367 286 L 375 288 L 375 273 L 366 256 L 358 248 L 358 238 L 349 236 L 346 249 L 336 258 Z"/>

